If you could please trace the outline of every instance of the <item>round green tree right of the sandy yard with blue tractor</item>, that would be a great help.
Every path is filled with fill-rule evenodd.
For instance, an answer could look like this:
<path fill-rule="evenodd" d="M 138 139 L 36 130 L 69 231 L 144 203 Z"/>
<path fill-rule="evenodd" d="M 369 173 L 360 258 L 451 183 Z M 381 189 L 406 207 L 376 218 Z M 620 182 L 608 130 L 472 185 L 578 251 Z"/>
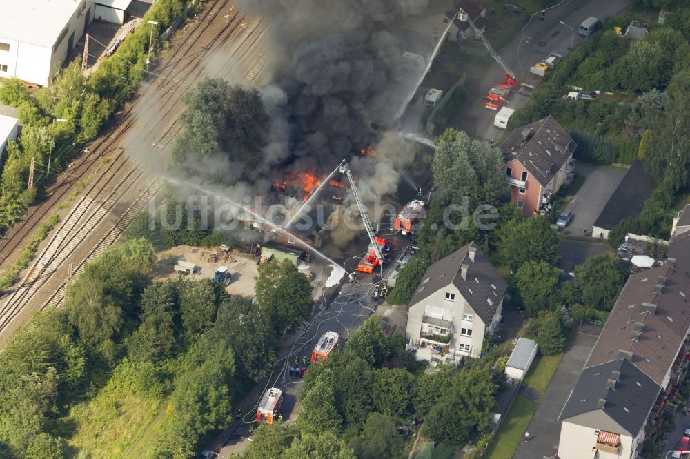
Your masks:
<path fill-rule="evenodd" d="M 289 261 L 259 265 L 255 291 L 259 311 L 278 334 L 292 332 L 311 317 L 314 307 L 311 286 Z"/>

